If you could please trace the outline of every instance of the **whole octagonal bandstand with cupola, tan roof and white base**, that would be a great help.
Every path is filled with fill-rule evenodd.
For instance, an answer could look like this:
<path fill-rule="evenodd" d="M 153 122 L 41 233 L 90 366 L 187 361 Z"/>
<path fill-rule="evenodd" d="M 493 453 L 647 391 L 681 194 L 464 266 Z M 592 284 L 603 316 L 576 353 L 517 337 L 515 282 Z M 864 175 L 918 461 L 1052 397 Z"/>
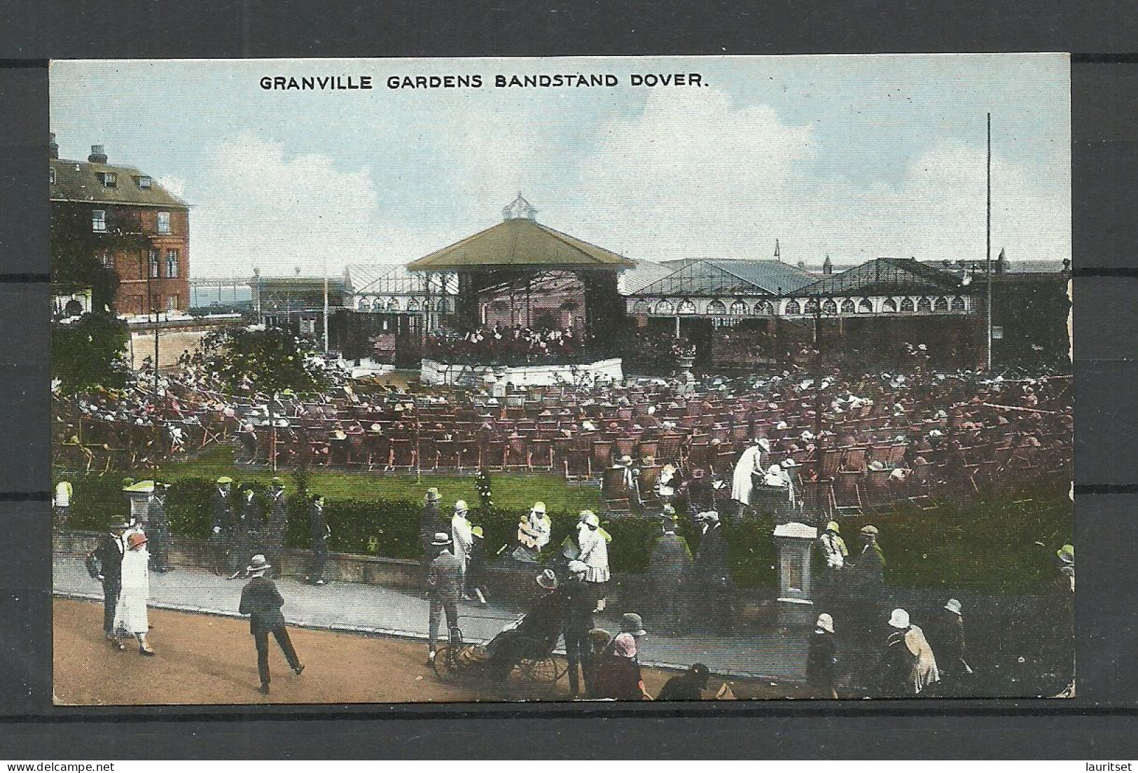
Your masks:
<path fill-rule="evenodd" d="M 473 384 L 487 375 L 517 385 L 575 384 L 582 375 L 622 377 L 616 342 L 625 321 L 620 272 L 636 263 L 537 222 L 521 194 L 496 225 L 407 264 L 407 270 L 457 278 L 453 326 L 570 329 L 587 343 L 588 359 L 543 359 L 506 367 L 492 359 L 462 363 L 424 360 L 430 384 Z"/>

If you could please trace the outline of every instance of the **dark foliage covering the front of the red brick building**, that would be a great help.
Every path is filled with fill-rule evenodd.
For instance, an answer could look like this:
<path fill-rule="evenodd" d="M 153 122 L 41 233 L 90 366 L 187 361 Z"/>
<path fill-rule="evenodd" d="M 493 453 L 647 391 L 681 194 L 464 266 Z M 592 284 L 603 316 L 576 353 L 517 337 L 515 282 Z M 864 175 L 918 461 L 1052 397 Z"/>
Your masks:
<path fill-rule="evenodd" d="M 142 232 L 137 213 L 107 211 L 106 231 L 91 228 L 91 209 L 82 205 L 51 205 L 51 289 L 56 295 L 91 288 L 91 309 L 114 313 L 118 274 L 104 265 L 104 255 L 145 255 L 154 242 Z"/>

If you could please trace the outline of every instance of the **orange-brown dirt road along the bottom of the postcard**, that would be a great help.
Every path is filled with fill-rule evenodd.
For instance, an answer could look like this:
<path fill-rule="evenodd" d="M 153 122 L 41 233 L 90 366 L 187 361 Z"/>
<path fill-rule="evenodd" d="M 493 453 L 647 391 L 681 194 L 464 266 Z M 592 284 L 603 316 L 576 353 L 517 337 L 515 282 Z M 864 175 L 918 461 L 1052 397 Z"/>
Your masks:
<path fill-rule="evenodd" d="M 246 620 L 150 610 L 150 643 L 157 657 L 117 652 L 102 636 L 102 608 L 88 601 L 53 600 L 53 686 L 65 705 L 166 704 L 374 704 L 477 700 L 566 700 L 569 686 L 526 682 L 517 675 L 503 690 L 460 680 L 440 682 L 424 665 L 424 642 L 290 628 L 304 674 L 295 676 L 270 639 L 272 692 L 256 688 L 257 659 Z M 644 669 L 652 694 L 673 674 Z M 721 680 L 712 677 L 708 697 Z M 733 682 L 740 698 L 787 697 L 786 688 Z M 793 694 L 793 691 L 790 691 Z"/>

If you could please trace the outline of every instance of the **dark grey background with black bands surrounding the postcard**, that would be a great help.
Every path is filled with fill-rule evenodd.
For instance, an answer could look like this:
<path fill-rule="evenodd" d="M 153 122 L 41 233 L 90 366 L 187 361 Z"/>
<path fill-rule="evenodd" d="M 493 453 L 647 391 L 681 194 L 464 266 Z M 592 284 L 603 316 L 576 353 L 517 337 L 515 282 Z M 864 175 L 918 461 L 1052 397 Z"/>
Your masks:
<path fill-rule="evenodd" d="M 5 3 L 0 757 L 1138 757 L 1136 27 L 1124 2 Z M 1078 699 L 52 707 L 49 58 L 929 51 L 1073 54 Z"/>

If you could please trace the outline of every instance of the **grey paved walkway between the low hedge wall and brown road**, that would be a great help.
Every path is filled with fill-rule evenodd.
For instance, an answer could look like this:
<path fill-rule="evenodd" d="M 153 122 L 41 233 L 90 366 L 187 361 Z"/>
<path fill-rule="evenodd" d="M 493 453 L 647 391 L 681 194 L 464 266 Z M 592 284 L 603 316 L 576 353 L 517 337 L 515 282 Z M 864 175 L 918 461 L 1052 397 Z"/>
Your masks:
<path fill-rule="evenodd" d="M 56 556 L 56 595 L 101 599 L 102 589 L 91 579 L 82 557 Z M 290 625 L 355 633 L 427 638 L 427 599 L 378 585 L 329 583 L 313 586 L 296 579 L 277 581 L 284 597 L 284 618 Z M 163 609 L 237 616 L 241 581 L 228 581 L 204 569 L 180 567 L 150 575 L 150 605 Z M 486 608 L 460 605 L 463 638 L 488 641 L 521 610 L 498 603 Z M 608 610 L 613 612 L 615 610 Z M 619 612 L 597 616 L 597 625 L 620 630 Z M 651 632 L 641 641 L 641 661 L 660 667 L 686 667 L 704 663 L 717 674 L 769 677 L 773 682 L 799 682 L 806 669 L 806 644 L 813 619 L 795 620 L 793 631 L 749 632 L 736 636 L 659 636 Z M 560 650 L 559 650 L 560 651 Z"/>

